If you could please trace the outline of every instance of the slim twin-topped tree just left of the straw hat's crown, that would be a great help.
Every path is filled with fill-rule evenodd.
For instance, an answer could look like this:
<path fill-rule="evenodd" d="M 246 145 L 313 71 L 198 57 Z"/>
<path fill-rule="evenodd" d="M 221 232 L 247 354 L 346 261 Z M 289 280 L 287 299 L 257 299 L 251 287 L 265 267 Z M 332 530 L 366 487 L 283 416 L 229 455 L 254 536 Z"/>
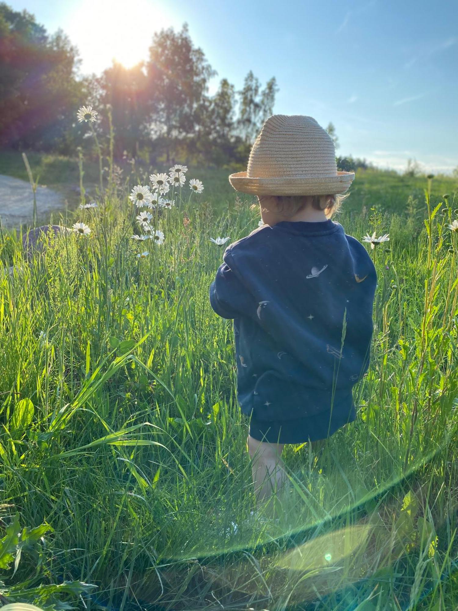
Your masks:
<path fill-rule="evenodd" d="M 278 92 L 275 76 L 267 82 L 260 92 L 260 81 L 252 70 L 245 76 L 244 86 L 238 92 L 239 117 L 237 127 L 245 143 L 252 143 L 264 121 L 272 114 L 275 103 L 275 93 Z"/>

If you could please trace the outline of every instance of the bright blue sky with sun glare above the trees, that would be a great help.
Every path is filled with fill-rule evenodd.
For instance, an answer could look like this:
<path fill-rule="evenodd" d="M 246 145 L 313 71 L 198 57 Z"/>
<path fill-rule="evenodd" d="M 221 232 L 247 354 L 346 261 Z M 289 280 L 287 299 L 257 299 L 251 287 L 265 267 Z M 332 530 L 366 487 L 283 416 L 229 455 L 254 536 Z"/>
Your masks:
<path fill-rule="evenodd" d="M 458 2 L 425 0 L 9 0 L 78 46 L 82 72 L 146 59 L 153 32 L 186 21 L 220 78 L 249 70 L 280 91 L 274 113 L 332 121 L 338 154 L 403 170 L 458 166 Z"/>

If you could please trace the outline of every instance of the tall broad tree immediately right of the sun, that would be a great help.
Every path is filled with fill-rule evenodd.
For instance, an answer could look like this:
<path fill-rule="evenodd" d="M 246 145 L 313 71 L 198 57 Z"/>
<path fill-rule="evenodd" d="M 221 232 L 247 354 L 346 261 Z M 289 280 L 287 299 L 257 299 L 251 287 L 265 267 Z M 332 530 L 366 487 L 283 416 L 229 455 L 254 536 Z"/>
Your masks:
<path fill-rule="evenodd" d="M 151 135 L 169 163 L 180 141 L 189 134 L 198 136 L 200 105 L 205 102 L 208 79 L 217 73 L 202 49 L 192 44 L 187 23 L 181 32 L 169 27 L 154 34 L 146 68 Z"/>

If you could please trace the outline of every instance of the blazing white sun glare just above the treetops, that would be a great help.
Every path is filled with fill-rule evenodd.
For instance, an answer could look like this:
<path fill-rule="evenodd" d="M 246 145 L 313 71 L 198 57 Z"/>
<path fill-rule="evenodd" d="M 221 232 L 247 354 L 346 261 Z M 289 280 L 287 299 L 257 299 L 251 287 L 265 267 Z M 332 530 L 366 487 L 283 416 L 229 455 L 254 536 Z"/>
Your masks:
<path fill-rule="evenodd" d="M 69 21 L 82 71 L 95 73 L 113 60 L 126 68 L 147 60 L 154 32 L 173 25 L 163 0 L 82 0 Z"/>

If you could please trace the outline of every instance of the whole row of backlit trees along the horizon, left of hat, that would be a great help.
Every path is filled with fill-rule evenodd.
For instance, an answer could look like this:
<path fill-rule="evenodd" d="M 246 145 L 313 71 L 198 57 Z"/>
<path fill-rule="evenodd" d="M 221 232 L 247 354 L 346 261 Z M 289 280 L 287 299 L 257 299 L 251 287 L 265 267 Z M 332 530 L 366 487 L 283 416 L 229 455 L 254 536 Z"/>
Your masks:
<path fill-rule="evenodd" d="M 249 71 L 241 90 L 222 78 L 209 95 L 217 72 L 187 23 L 156 32 L 148 58 L 133 68 L 114 61 L 101 75 L 79 76 L 80 65 L 62 30 L 49 35 L 31 13 L 0 3 L 1 147 L 74 153 L 87 137 L 76 111 L 92 104 L 101 134 L 111 114 L 117 159 L 244 165 L 278 92 L 274 76 L 262 86 Z"/>

